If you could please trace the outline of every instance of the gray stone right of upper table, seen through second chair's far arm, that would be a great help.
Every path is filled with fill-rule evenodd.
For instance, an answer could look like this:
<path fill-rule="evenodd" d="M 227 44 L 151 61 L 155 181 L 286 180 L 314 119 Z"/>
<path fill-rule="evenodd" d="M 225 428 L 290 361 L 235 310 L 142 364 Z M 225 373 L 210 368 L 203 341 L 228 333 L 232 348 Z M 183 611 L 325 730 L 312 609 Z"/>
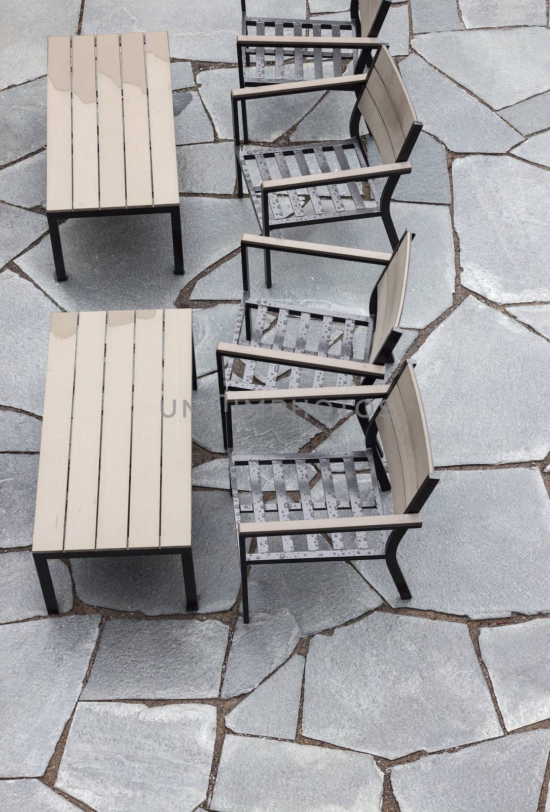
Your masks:
<path fill-rule="evenodd" d="M 277 11 L 279 7 L 277 6 Z M 240 30 L 240 24 L 238 25 Z M 233 35 L 234 37 L 234 35 Z M 234 56 L 231 61 L 234 61 Z M 237 68 L 221 68 L 201 71 L 197 76 L 200 96 L 212 116 L 218 138 L 231 140 L 233 124 L 231 119 L 230 92 L 238 88 Z M 258 99 L 247 103 L 248 132 L 251 140 L 273 141 L 299 122 L 320 98 L 320 93 L 299 93 L 297 95 Z M 242 135 L 242 133 L 241 133 Z"/>

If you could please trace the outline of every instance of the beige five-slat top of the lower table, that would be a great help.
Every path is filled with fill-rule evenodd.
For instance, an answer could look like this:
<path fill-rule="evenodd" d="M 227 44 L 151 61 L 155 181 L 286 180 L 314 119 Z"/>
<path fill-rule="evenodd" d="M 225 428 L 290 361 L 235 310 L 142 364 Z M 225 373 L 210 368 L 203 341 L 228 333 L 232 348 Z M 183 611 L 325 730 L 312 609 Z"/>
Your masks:
<path fill-rule="evenodd" d="M 191 545 L 191 391 L 190 309 L 52 313 L 33 552 Z"/>

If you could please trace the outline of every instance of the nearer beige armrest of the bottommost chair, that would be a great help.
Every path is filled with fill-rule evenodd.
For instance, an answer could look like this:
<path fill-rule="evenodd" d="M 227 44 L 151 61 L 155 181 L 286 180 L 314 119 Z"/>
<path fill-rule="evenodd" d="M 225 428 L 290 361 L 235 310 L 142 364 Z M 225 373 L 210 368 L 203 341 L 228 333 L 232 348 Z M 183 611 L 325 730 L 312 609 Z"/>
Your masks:
<path fill-rule="evenodd" d="M 297 519 L 294 521 L 239 522 L 239 538 L 256 536 L 299 536 L 308 533 L 354 533 L 360 530 L 392 530 L 422 527 L 420 513 L 393 516 L 353 516 L 349 519 Z"/>

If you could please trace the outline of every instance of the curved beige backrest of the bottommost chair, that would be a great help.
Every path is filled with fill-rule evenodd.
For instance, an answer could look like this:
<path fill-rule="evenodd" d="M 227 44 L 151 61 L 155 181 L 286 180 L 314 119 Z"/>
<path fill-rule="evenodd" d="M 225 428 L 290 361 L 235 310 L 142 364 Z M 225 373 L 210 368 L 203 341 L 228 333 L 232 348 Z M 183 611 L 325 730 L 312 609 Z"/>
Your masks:
<path fill-rule="evenodd" d="M 402 366 L 374 419 L 388 464 L 393 512 L 405 513 L 433 473 L 428 429 L 410 361 Z"/>

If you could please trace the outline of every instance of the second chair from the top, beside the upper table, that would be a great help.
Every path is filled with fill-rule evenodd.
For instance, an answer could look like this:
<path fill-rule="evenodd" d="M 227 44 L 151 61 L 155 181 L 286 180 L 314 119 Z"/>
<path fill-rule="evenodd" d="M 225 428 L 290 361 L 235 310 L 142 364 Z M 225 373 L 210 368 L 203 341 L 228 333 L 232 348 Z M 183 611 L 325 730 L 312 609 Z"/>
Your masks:
<path fill-rule="evenodd" d="M 240 145 L 238 104 L 247 99 L 308 93 L 315 90 L 350 90 L 357 94 L 351 112 L 350 138 L 291 146 Z M 389 204 L 408 162 L 422 123 L 403 84 L 396 63 L 381 45 L 368 73 L 294 84 L 268 84 L 231 91 L 238 197 L 243 178 L 251 195 L 261 233 L 312 222 L 381 217 L 392 248 L 398 243 Z M 368 166 L 359 136 L 363 121 L 372 136 L 381 164 Z M 372 181 L 385 178 L 381 193 Z M 370 198 L 363 196 L 366 182 Z M 281 197 L 284 193 L 284 197 Z M 265 283 L 271 287 L 269 248 L 264 252 Z"/>

